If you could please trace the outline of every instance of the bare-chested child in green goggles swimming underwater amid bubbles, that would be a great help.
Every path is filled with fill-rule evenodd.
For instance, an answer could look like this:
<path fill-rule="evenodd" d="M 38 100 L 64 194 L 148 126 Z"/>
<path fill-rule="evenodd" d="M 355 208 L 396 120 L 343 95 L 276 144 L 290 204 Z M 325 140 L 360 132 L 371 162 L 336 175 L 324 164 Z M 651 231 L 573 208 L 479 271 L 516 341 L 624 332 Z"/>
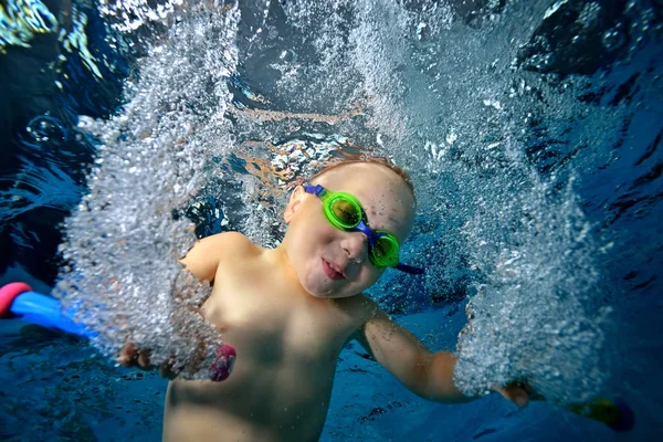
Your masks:
<path fill-rule="evenodd" d="M 401 169 L 369 158 L 334 164 L 297 187 L 276 249 L 240 233 L 198 242 L 182 260 L 213 291 L 201 314 L 236 349 L 222 382 L 172 379 L 166 441 L 315 441 L 320 436 L 336 360 L 351 339 L 418 396 L 462 402 L 455 357 L 431 352 L 362 292 L 399 261 L 415 200 Z M 147 367 L 130 346 L 124 365 Z M 523 387 L 496 388 L 523 407 Z"/>

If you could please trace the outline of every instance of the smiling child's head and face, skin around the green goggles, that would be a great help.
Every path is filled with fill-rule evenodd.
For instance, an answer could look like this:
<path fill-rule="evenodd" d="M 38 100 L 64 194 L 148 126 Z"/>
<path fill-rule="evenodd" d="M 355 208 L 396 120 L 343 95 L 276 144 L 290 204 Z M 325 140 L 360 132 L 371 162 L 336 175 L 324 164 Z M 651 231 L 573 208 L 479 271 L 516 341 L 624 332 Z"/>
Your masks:
<path fill-rule="evenodd" d="M 402 178 L 375 164 L 332 169 L 314 183 L 359 199 L 370 229 L 393 233 L 402 244 L 414 219 L 414 198 Z M 368 240 L 361 232 L 332 225 L 323 201 L 297 188 L 285 213 L 288 231 L 284 245 L 302 286 L 313 296 L 338 298 L 357 295 L 383 273 L 368 259 Z"/>

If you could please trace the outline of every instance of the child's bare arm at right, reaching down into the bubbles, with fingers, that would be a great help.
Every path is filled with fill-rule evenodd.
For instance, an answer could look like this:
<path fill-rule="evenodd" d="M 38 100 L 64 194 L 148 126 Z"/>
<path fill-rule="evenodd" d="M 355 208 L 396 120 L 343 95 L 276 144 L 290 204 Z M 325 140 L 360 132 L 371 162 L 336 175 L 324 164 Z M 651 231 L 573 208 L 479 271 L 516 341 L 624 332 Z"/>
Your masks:
<path fill-rule="evenodd" d="M 364 326 L 355 338 L 378 362 L 415 394 L 436 402 L 465 402 L 476 398 L 464 396 L 453 382 L 456 357 L 449 351 L 431 352 L 410 332 L 396 324 L 372 301 L 366 299 Z M 527 391 L 523 387 L 495 388 L 502 396 L 523 407 Z"/>

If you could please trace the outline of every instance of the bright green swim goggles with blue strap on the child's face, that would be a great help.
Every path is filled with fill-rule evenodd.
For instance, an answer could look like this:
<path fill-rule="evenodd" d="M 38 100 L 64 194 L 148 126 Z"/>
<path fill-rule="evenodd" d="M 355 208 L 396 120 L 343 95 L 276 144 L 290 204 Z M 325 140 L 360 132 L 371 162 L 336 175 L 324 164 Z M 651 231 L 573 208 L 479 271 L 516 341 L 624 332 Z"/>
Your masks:
<path fill-rule="evenodd" d="M 376 267 L 394 267 L 411 274 L 423 273 L 423 269 L 400 263 L 400 244 L 396 235 L 385 230 L 371 230 L 366 224 L 364 208 L 355 196 L 332 192 L 319 185 L 304 186 L 304 191 L 323 201 L 323 211 L 332 225 L 346 232 L 361 232 L 368 238 L 368 259 Z"/>

